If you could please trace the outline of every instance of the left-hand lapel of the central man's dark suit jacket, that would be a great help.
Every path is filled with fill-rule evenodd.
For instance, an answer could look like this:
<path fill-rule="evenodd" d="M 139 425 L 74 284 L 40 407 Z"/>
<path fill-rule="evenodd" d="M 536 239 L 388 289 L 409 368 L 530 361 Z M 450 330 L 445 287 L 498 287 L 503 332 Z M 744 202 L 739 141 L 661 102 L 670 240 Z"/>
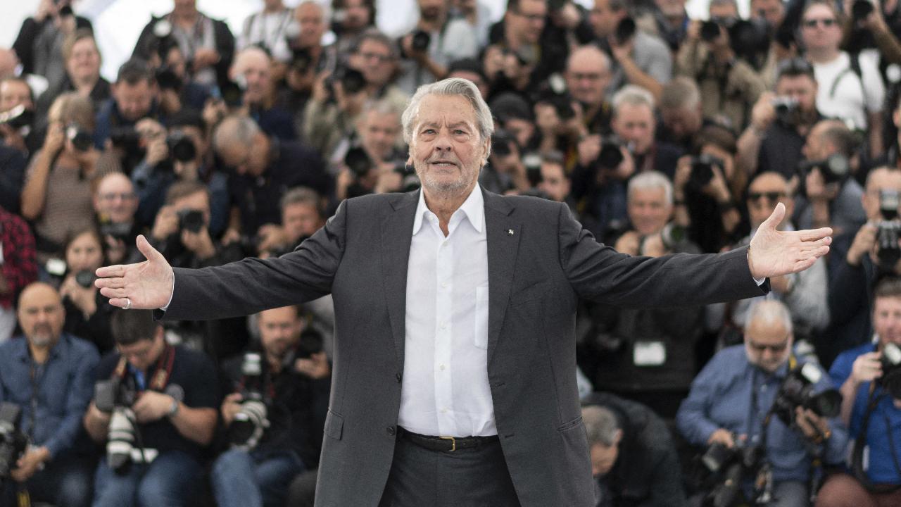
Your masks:
<path fill-rule="evenodd" d="M 406 271 L 413 241 L 413 219 L 419 192 L 392 196 L 381 221 L 382 281 L 398 367 L 404 368 L 406 318 Z"/>

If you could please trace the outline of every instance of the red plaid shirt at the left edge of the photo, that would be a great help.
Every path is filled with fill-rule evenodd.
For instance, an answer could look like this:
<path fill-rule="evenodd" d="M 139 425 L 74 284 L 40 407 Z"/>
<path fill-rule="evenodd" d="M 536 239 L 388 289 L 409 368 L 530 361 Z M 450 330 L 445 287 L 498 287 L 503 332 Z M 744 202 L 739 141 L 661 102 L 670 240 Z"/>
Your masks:
<path fill-rule="evenodd" d="M 13 308 L 19 291 L 38 278 L 34 258 L 34 235 L 22 217 L 0 207 L 0 273 L 7 290 L 0 294 L 0 306 Z"/>

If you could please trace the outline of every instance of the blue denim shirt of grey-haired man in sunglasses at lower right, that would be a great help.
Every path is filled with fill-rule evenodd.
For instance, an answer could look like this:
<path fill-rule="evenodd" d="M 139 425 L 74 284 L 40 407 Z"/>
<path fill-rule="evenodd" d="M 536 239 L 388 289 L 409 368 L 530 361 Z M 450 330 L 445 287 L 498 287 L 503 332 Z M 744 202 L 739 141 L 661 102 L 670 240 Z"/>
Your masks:
<path fill-rule="evenodd" d="M 760 443 L 763 419 L 787 373 L 787 362 L 769 374 L 748 362 L 743 345 L 724 348 L 691 384 L 691 392 L 676 414 L 679 431 L 695 446 L 705 446 L 707 439 L 720 428 L 739 436 L 747 435 L 752 445 Z M 823 372 L 814 390 L 822 392 L 832 387 L 829 375 Z M 757 392 L 753 410 L 752 390 Z M 824 444 L 824 461 L 841 463 L 848 432 L 839 418 L 829 419 L 829 427 L 833 435 Z M 769 420 L 765 456 L 772 466 L 774 481 L 807 481 L 814 449 L 800 429 L 788 428 L 778 417 Z"/>

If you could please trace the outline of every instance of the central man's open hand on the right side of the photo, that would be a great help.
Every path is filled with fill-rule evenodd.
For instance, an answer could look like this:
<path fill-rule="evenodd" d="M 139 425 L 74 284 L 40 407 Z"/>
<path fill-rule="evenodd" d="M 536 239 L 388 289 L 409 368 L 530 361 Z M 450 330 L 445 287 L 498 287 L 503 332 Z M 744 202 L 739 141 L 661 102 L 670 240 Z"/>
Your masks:
<path fill-rule="evenodd" d="M 832 228 L 779 231 L 776 226 L 785 215 L 786 207 L 780 202 L 751 240 L 748 266 L 751 276 L 756 279 L 803 272 L 829 253 L 829 245 L 833 242 Z"/>

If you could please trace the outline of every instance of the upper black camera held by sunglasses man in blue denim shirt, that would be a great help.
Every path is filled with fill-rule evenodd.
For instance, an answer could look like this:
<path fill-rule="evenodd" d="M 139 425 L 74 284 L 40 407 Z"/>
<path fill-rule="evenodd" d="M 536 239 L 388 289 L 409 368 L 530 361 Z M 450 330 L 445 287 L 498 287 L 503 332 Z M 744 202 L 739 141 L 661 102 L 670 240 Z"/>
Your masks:
<path fill-rule="evenodd" d="M 842 394 L 835 389 L 814 392 L 814 386 L 820 382 L 823 372 L 815 363 L 805 363 L 791 370 L 786 375 L 776 400 L 770 409 L 786 426 L 795 420 L 795 409 L 813 410 L 820 417 L 833 418 L 839 415 L 842 407 Z"/>

